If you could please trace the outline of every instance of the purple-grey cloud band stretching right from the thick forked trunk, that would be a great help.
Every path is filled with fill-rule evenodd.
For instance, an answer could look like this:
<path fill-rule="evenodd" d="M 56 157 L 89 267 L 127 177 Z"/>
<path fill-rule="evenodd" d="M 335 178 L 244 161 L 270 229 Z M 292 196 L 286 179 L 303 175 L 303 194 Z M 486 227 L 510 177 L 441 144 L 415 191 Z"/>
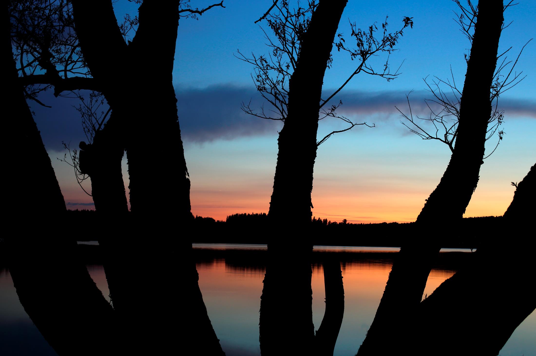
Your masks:
<path fill-rule="evenodd" d="M 328 92 L 328 91 L 326 91 Z M 383 120 L 399 119 L 395 106 L 407 110 L 406 94 L 409 91 L 364 92 L 346 91 L 336 96 L 329 105 L 340 101 L 343 105 L 337 113 L 341 115 L 358 115 L 368 120 L 369 116 Z M 207 88 L 176 88 L 179 121 L 185 142 L 203 143 L 215 139 L 235 139 L 239 137 L 274 135 L 280 131 L 280 121 L 263 120 L 245 114 L 240 109 L 241 102 L 258 109 L 263 105 L 263 98 L 254 88 L 230 84 L 214 85 Z M 424 99 L 431 98 L 430 92 L 414 91 L 410 94 L 413 113 L 425 116 L 429 110 Z M 536 101 L 504 98 L 499 101 L 505 110 L 505 117 L 536 118 Z M 265 112 L 270 108 L 265 103 Z M 360 120 L 359 118 L 354 118 Z"/>

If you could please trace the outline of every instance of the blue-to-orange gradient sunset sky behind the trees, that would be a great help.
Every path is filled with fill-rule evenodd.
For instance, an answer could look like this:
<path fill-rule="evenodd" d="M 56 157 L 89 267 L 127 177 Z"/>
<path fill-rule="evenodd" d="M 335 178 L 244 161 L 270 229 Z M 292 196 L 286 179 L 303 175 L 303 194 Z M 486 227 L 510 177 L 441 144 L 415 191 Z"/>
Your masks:
<path fill-rule="evenodd" d="M 193 8 L 210 2 L 193 0 Z M 214 8 L 195 19 L 181 19 L 178 27 L 173 83 L 185 157 L 191 177 L 192 213 L 225 219 L 237 212 L 267 212 L 277 159 L 277 131 L 280 122 L 263 121 L 240 110 L 241 101 L 252 99 L 260 107 L 255 92 L 252 66 L 234 57 L 268 53 L 263 33 L 254 24 L 272 0 L 225 0 L 225 9 Z M 136 14 L 136 5 L 126 0 L 114 4 L 116 16 Z M 426 115 L 423 99 L 429 98 L 422 78 L 450 78 L 450 69 L 460 87 L 466 70 L 464 53 L 470 43 L 453 18 L 452 1 L 349 0 L 338 32 L 347 35 L 349 20 L 358 27 L 381 24 L 388 15 L 391 31 L 401 27 L 404 16 L 413 17 L 390 63 L 401 67 L 399 78 L 389 83 L 382 78 L 360 74 L 335 99 L 338 110 L 359 122 L 375 123 L 375 128 L 356 127 L 331 137 L 319 146 L 314 172 L 312 214 L 316 217 L 351 222 L 414 221 L 425 199 L 437 186 L 450 159 L 449 148 L 436 141 L 421 140 L 401 123 L 396 105 L 407 112 L 405 94 L 410 95 L 414 112 Z M 523 45 L 535 37 L 536 2 L 521 0 L 505 12 L 505 23 L 513 23 L 501 35 L 499 52 L 510 46 L 509 59 L 515 60 Z M 382 58 L 378 58 L 377 67 Z M 480 182 L 467 207 L 466 217 L 502 215 L 514 187 L 536 161 L 536 42 L 529 43 L 516 66 L 527 77 L 500 99 L 505 109 L 504 139 L 480 169 Z M 342 53 L 333 53 L 333 65 L 326 71 L 324 92 L 337 88 L 354 70 L 355 62 Z M 136 73 L 132 73 L 136 76 Z M 74 99 L 54 98 L 43 93 L 41 101 L 53 108 L 29 102 L 41 130 L 56 176 L 69 209 L 92 209 L 91 197 L 76 183 L 71 167 L 58 161 L 63 157 L 61 142 L 78 146 L 84 140 Z M 334 119 L 333 119 L 334 120 Z M 321 122 L 318 137 L 342 128 L 327 119 Z M 494 139 L 486 152 L 493 150 Z M 158 153 L 155 153 L 158 154 Z M 125 186 L 128 186 L 123 160 Z M 162 169 L 152 167 L 152 169 Z M 173 189 L 174 182 L 168 182 Z M 87 182 L 86 189 L 90 189 Z M 46 202 L 28 202 L 46 206 Z"/>

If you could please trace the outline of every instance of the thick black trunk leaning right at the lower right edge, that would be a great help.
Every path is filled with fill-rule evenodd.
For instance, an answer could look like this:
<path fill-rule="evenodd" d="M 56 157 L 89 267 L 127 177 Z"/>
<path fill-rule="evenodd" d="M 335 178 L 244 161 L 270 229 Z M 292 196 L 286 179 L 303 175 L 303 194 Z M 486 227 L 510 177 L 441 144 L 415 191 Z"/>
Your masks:
<path fill-rule="evenodd" d="M 528 292 L 519 288 L 533 280 L 535 244 L 531 239 L 519 239 L 517 234 L 530 231 L 535 186 L 536 174 L 531 167 L 504 213 L 502 228 L 495 228 L 498 236 L 473 254 L 470 265 L 444 281 L 421 302 L 418 320 L 427 326 L 419 335 L 422 350 L 434 350 L 435 354 L 445 356 L 495 356 L 518 325 L 534 311 L 536 298 L 530 287 Z M 505 250 L 497 237 L 512 232 L 511 250 Z M 512 244 L 516 240 L 523 248 Z M 449 342 L 443 342 L 445 339 Z"/>

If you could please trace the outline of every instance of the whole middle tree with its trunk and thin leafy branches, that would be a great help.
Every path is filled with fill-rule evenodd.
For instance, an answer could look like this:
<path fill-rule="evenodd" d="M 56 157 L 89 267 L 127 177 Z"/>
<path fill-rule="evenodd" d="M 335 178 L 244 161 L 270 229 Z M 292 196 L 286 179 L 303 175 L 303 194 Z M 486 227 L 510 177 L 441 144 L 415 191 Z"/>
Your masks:
<path fill-rule="evenodd" d="M 248 58 L 239 52 L 240 59 L 255 66 L 252 79 L 257 90 L 271 103 L 272 111 L 278 116 L 267 116 L 264 110 L 256 113 L 244 104 L 242 109 L 261 118 L 284 121 L 278 138 L 279 153 L 268 214 L 271 241 L 260 303 L 259 340 L 263 355 L 280 352 L 282 345 L 288 353 L 314 353 L 311 348 L 315 338 L 310 283 L 312 242 L 307 234 L 312 216 L 311 190 L 316 150 L 334 133 L 357 125 L 336 114 L 341 102 L 329 109 L 326 109 L 326 104 L 360 72 L 388 79 L 396 77 L 397 73 L 389 72 L 387 63 L 384 71 L 378 73 L 367 65 L 367 60 L 378 53 L 393 51 L 403 29 L 413 25 L 413 21 L 406 17 L 403 28 L 391 34 L 384 23 L 380 30 L 382 36 L 376 39 L 375 25 L 362 31 L 351 24 L 357 48 L 346 47 L 341 34 L 337 36 L 336 47 L 339 51 L 347 51 L 353 60 L 358 60 L 358 66 L 338 90 L 322 100 L 324 73 L 331 65 L 333 41 L 346 3 L 347 0 L 331 3 L 310 1 L 305 8 L 291 10 L 287 1 L 279 4 L 274 1 L 269 11 L 259 19 L 266 19 L 276 36 L 276 40 L 272 41 L 265 33 L 272 54 Z M 340 118 L 348 127 L 332 131 L 317 140 L 318 121 L 329 116 Z M 289 217 L 293 217 L 295 222 L 292 227 L 287 224 Z M 288 243 L 285 240 L 282 244 L 281 233 L 286 235 L 289 229 L 300 235 L 306 234 L 306 241 L 296 239 Z M 326 284 L 326 287 L 333 285 L 336 284 Z M 326 313 L 329 314 L 329 311 L 326 308 Z M 319 349 L 333 350 L 336 335 L 322 340 L 333 345 Z"/>

